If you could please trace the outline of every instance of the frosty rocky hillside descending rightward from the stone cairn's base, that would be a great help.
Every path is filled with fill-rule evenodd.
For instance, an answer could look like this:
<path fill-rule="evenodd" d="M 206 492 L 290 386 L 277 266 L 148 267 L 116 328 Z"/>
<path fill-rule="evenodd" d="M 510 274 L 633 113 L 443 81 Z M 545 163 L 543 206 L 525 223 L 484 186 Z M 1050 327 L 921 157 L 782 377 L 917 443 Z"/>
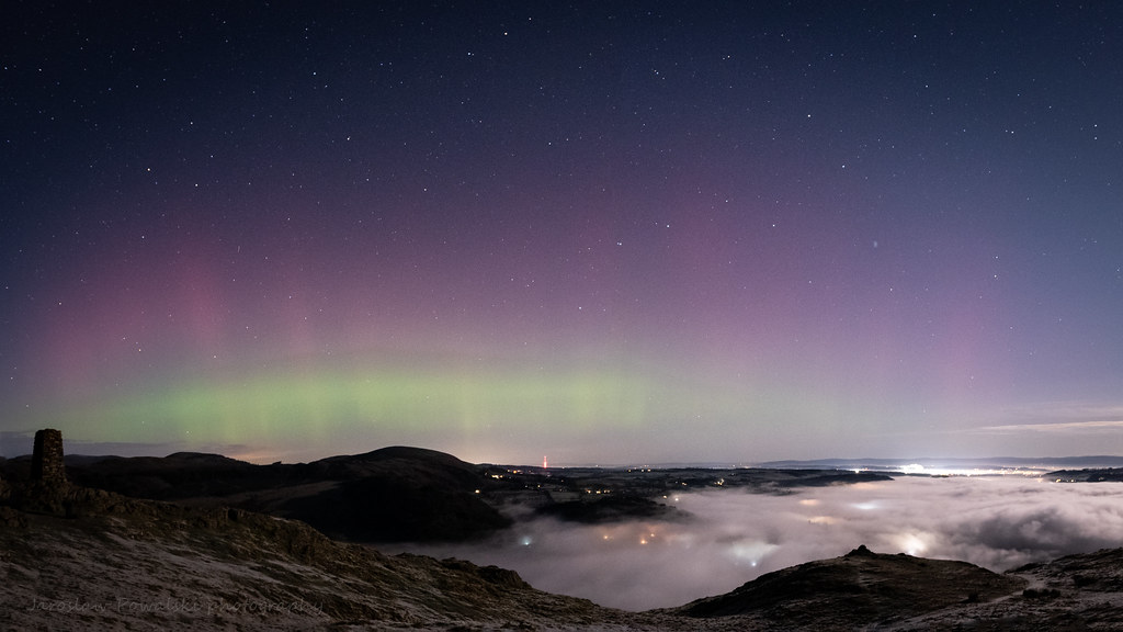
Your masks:
<path fill-rule="evenodd" d="M 77 508 L 69 518 L 0 507 L 7 629 L 499 630 L 590 621 L 611 629 L 636 621 L 535 590 L 512 571 L 387 557 L 294 521 L 84 489 L 67 498 Z"/>

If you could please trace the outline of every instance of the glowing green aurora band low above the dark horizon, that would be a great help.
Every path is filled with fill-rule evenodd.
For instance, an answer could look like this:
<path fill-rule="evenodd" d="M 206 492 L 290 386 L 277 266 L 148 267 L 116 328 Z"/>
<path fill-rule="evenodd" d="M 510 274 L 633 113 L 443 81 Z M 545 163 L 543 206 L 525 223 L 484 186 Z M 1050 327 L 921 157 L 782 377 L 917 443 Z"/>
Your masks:
<path fill-rule="evenodd" d="M 663 433 L 688 444 L 707 426 L 729 419 L 747 422 L 741 425 L 752 441 L 780 427 L 839 430 L 839 403 L 809 392 L 604 365 L 290 367 L 164 377 L 112 397 L 72 395 L 38 407 L 24 422 L 29 430 L 60 427 L 76 443 L 222 451 L 258 462 L 392 444 L 447 450 L 469 460 L 535 462 L 535 453 L 547 451 L 579 458 L 567 452 L 568 445 L 590 432 L 605 442 Z M 489 453 L 486 440 L 495 436 L 517 440 L 523 452 Z"/>

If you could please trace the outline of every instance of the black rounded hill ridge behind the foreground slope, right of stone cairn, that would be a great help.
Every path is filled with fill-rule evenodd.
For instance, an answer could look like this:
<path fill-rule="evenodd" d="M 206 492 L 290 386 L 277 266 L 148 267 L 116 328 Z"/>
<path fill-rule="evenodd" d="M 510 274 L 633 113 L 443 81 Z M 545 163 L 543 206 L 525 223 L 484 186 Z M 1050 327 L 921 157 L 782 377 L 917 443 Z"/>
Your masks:
<path fill-rule="evenodd" d="M 19 460 L 6 463 L 11 464 L 24 466 Z M 483 468 L 420 448 L 271 466 L 195 452 L 79 457 L 67 458 L 66 471 L 85 487 L 268 513 L 357 542 L 465 540 L 510 524 L 476 493 L 487 482 Z M 13 473 L 6 476 L 26 476 Z"/>

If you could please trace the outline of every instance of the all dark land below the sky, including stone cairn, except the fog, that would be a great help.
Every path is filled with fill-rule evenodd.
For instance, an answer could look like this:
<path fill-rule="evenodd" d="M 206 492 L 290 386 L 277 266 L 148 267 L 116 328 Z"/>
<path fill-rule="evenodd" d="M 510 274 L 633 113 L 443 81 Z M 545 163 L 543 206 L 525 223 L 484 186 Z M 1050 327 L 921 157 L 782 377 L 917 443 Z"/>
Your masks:
<path fill-rule="evenodd" d="M 530 512 L 596 523 L 691 516 L 669 489 L 755 494 L 887 480 L 830 470 L 506 468 L 412 448 L 301 464 L 213 454 L 89 458 L 37 435 L 2 463 L 8 629 L 1112 630 L 1123 549 L 997 574 L 861 543 L 723 595 L 626 612 L 494 566 L 380 542 L 482 538 Z M 1114 470 L 1068 472 L 1108 480 Z M 520 507 L 510 512 L 510 508 Z M 330 535 L 330 536 L 329 536 Z M 674 569 L 667 569 L 673 574 Z"/>

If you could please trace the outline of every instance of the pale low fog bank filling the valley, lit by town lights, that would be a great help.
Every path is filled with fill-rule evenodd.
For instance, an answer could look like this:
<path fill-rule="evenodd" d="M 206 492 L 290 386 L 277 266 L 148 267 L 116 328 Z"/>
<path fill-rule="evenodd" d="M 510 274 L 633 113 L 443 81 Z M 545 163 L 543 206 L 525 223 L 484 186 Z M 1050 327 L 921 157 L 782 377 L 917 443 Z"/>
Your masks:
<path fill-rule="evenodd" d="M 725 593 L 859 544 L 996 571 L 1123 545 L 1120 484 L 905 477 L 785 496 L 706 490 L 666 502 L 695 518 L 597 526 L 533 520 L 486 543 L 396 550 L 499 565 L 536 588 L 639 611 Z"/>

